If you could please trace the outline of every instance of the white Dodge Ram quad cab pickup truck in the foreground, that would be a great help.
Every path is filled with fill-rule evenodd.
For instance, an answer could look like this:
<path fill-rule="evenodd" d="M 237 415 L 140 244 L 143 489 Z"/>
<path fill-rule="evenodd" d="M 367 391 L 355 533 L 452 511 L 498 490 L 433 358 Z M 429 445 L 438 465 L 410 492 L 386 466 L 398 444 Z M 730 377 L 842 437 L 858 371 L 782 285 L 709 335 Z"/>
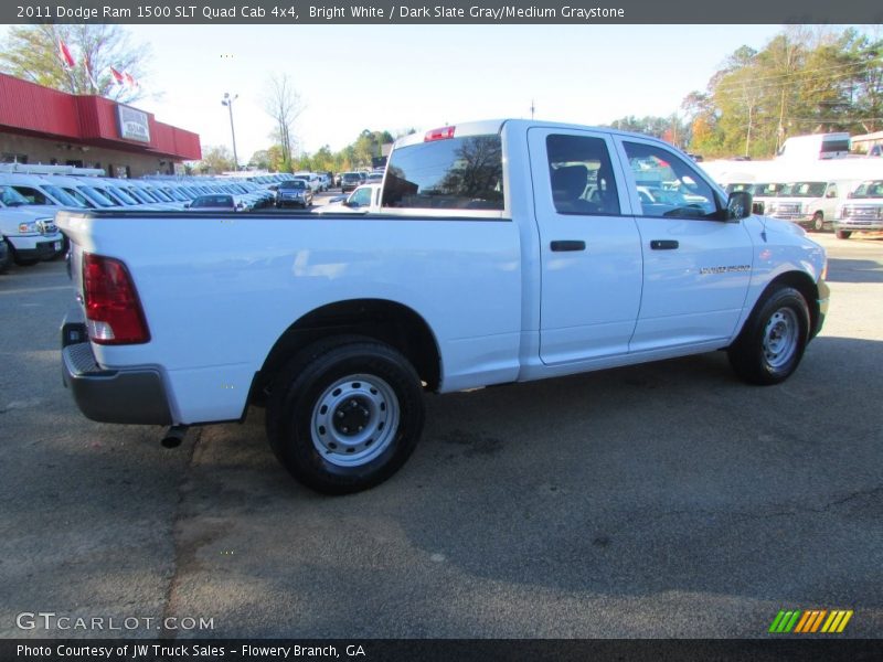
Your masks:
<path fill-rule="evenodd" d="M 649 184 L 677 195 L 642 202 Z M 82 412 L 174 433 L 265 405 L 295 478 L 353 492 L 414 450 L 424 392 L 715 350 L 776 384 L 828 307 L 819 245 L 646 136 L 526 120 L 412 135 L 381 204 L 60 214 Z"/>

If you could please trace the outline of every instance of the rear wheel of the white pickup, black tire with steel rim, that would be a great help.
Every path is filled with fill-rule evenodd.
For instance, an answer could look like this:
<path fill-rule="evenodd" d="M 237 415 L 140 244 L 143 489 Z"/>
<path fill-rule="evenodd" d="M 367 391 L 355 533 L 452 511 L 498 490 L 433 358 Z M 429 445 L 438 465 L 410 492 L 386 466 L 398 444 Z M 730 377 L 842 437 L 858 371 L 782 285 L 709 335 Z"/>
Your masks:
<path fill-rule="evenodd" d="M 330 338 L 280 371 L 266 420 L 270 447 L 295 479 L 326 494 L 359 492 L 414 451 L 424 420 L 421 380 L 386 344 Z"/>

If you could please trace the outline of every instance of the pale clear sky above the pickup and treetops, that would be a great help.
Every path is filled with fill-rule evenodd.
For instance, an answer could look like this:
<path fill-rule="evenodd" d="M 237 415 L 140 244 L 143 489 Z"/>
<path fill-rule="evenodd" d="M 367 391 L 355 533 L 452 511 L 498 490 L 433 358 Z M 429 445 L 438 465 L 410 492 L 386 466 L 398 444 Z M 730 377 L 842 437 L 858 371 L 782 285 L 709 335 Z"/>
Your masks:
<path fill-rule="evenodd" d="M 337 151 L 363 129 L 535 117 L 583 125 L 670 116 L 740 46 L 780 25 L 127 25 L 150 45 L 134 106 L 232 146 L 245 163 L 272 145 L 268 81 L 288 74 L 299 147 Z M 2 31 L 0 31 L 2 34 Z"/>

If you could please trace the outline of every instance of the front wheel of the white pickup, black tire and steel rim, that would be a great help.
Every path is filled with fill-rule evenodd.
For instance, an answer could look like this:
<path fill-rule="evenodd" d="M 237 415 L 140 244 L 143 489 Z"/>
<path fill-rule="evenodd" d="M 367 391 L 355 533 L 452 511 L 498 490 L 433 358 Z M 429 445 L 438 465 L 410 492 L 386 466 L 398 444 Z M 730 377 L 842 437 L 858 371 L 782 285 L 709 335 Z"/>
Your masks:
<path fill-rule="evenodd" d="M 728 348 L 730 364 L 749 384 L 779 384 L 797 370 L 808 340 L 806 299 L 792 287 L 775 286 L 757 302 Z"/>

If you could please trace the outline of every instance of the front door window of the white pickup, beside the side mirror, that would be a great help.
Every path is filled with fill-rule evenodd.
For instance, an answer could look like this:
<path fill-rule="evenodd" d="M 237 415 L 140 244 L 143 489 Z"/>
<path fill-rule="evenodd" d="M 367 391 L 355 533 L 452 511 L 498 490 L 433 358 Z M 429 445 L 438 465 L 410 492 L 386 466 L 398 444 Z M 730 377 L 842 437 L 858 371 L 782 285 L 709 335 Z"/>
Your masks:
<path fill-rule="evenodd" d="M 675 154 L 652 145 L 624 142 L 641 215 L 711 218 L 717 213 L 712 188 Z"/>

